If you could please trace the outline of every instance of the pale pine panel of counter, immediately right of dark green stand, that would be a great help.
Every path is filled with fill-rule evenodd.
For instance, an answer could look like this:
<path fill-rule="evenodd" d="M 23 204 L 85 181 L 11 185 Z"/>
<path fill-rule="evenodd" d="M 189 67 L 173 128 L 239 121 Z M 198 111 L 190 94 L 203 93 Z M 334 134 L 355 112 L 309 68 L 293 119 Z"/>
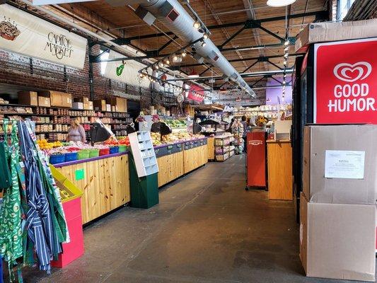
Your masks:
<path fill-rule="evenodd" d="M 184 174 L 183 151 L 157 158 L 158 187 L 161 187 L 172 180 L 180 178 Z"/>

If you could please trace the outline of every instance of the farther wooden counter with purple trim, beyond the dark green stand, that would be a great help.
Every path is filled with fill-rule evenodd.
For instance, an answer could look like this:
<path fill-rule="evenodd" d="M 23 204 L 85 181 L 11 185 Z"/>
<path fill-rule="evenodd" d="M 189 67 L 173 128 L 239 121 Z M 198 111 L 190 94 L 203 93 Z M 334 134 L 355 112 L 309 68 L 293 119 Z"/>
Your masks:
<path fill-rule="evenodd" d="M 158 187 L 208 162 L 207 138 L 155 146 L 158 163 Z"/>

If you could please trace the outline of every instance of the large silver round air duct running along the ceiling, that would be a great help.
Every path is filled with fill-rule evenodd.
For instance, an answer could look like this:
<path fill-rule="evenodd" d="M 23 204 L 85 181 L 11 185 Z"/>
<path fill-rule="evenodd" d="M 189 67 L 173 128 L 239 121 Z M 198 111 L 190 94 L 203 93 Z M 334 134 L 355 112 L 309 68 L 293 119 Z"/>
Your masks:
<path fill-rule="evenodd" d="M 190 42 L 195 42 L 203 37 L 203 34 L 196 30 L 193 25 L 195 20 L 183 8 L 177 0 L 107 0 L 113 6 L 119 6 L 120 1 L 122 4 L 139 4 L 141 8 L 137 11 L 143 13 L 144 11 L 151 13 L 154 17 L 158 18 L 161 23 L 175 33 L 187 45 Z M 139 13 L 140 14 L 140 13 Z M 145 13 L 144 13 L 145 15 Z M 255 97 L 255 93 L 248 83 L 238 74 L 231 63 L 221 54 L 220 50 L 214 45 L 214 42 L 207 39 L 204 40 L 206 45 L 202 47 L 202 42 L 197 42 L 193 45 L 196 49 L 195 59 L 198 62 L 206 61 L 219 68 L 224 77 L 229 78 L 231 81 L 245 89 L 247 93 Z"/>

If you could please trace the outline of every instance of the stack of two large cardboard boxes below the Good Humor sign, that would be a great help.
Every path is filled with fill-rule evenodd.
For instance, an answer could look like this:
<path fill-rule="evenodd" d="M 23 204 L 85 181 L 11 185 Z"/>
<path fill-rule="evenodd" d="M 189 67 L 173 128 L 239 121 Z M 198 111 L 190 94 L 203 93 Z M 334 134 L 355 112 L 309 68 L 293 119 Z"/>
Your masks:
<path fill-rule="evenodd" d="M 308 277 L 374 282 L 377 126 L 304 130 L 300 257 Z"/>

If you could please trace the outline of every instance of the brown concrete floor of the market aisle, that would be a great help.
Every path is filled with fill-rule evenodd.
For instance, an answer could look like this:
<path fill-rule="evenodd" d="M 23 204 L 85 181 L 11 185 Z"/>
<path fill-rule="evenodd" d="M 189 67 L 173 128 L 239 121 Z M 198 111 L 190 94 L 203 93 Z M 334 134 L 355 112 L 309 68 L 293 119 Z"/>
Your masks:
<path fill-rule="evenodd" d="M 25 282 L 340 282 L 304 276 L 292 202 L 245 191 L 244 156 L 166 186 L 152 209 L 124 207 L 88 226 L 86 253 Z M 344 281 L 342 281 L 344 282 Z"/>

